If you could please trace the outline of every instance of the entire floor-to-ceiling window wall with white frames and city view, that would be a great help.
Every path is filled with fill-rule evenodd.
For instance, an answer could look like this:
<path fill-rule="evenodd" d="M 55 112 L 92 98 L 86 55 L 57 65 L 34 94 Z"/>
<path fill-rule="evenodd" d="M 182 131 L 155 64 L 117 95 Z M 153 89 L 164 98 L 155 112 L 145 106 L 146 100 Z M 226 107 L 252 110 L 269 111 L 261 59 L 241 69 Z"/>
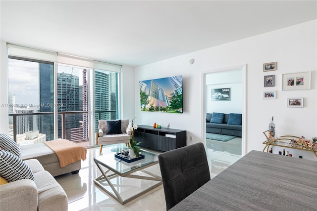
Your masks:
<path fill-rule="evenodd" d="M 94 145 L 98 120 L 119 118 L 121 66 L 8 45 L 9 135 L 19 145 L 57 138 Z"/>

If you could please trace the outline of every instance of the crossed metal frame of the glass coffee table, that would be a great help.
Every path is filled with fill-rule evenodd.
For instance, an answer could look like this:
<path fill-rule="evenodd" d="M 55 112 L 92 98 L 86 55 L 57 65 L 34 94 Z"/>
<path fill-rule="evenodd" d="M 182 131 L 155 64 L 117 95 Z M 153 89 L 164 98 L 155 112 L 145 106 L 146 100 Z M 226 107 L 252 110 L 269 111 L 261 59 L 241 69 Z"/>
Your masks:
<path fill-rule="evenodd" d="M 147 153 L 149 153 L 149 152 L 147 152 Z M 142 153 L 142 154 L 143 154 L 143 153 Z M 151 154 L 151 153 L 150 153 L 150 154 Z M 145 155 L 145 156 L 146 156 L 146 155 Z M 113 157 L 114 157 L 114 154 L 113 154 Z M 116 158 L 116 159 L 117 159 L 117 158 Z M 119 159 L 118 159 L 118 160 L 119 160 Z M 139 160 L 139 161 L 136 161 L 136 162 L 140 162 L 140 161 L 142 162 L 142 160 Z M 153 190 L 154 188 L 156 188 L 156 187 L 158 187 L 159 185 L 162 184 L 162 178 L 161 178 L 159 175 L 156 175 L 156 174 L 154 174 L 154 173 L 152 173 L 152 172 L 149 172 L 149 171 L 147 171 L 147 170 L 144 170 L 144 169 L 146 169 L 146 168 L 148 168 L 148 167 L 151 167 L 151 166 L 153 166 L 153 165 L 158 164 L 158 163 L 159 163 L 159 160 L 158 160 L 158 161 L 155 161 L 155 162 L 153 162 L 153 163 L 150 163 L 150 164 L 148 164 L 148 165 L 142 166 L 142 167 L 139 167 L 138 165 L 135 165 L 133 168 L 131 168 L 131 170 L 129 170 L 129 171 L 127 171 L 127 172 L 124 172 L 124 173 L 118 171 L 117 169 L 113 169 L 113 168 L 111 168 L 110 166 L 108 166 L 107 164 L 101 162 L 100 160 L 98 160 L 98 157 L 97 157 L 97 158 L 94 158 L 94 162 L 96 163 L 98 169 L 102 172 L 102 174 L 101 174 L 100 176 L 98 176 L 96 179 L 94 179 L 94 183 L 95 183 L 96 185 L 98 185 L 101 189 L 103 189 L 107 194 L 109 194 L 110 196 L 112 196 L 112 197 L 113 197 L 115 200 L 117 200 L 119 203 L 121 203 L 122 205 L 124 205 L 125 203 L 128 203 L 128 202 L 130 202 L 130 201 L 132 201 L 132 200 L 134 200 L 134 199 L 136 199 L 137 197 L 139 197 L 139 196 L 141 196 L 141 195 L 143 195 L 143 194 L 149 192 L 150 190 Z M 118 161 L 118 162 L 119 162 L 119 161 Z M 120 161 L 120 162 L 124 162 L 124 161 Z M 133 162 L 133 163 L 134 163 L 134 162 Z M 133 163 L 130 163 L 130 164 L 133 164 Z M 128 164 L 128 163 L 127 163 L 127 164 Z M 104 171 L 101 166 L 105 167 L 105 168 L 106 168 L 106 171 Z M 107 175 L 106 173 L 108 173 L 109 171 L 112 171 L 113 173 Z M 153 176 L 153 177 L 151 177 L 151 176 L 141 176 L 141 175 L 132 174 L 132 173 L 134 173 L 134 172 L 136 172 L 136 171 L 142 171 L 142 172 L 147 173 L 147 174 L 149 174 L 149 175 L 151 175 L 151 176 Z M 123 199 L 121 198 L 119 192 L 114 188 L 113 184 L 112 184 L 111 181 L 110 181 L 112 178 L 115 178 L 115 177 L 117 177 L 117 176 L 129 177 L 129 178 L 136 178 L 136 179 L 155 180 L 155 181 L 159 181 L 159 183 L 150 186 L 149 188 L 147 188 L 147 189 L 145 189 L 145 190 L 143 190 L 143 191 L 141 191 L 141 192 L 139 192 L 139 193 L 137 193 L 137 194 L 135 194 L 135 195 L 129 197 L 128 199 L 123 200 Z M 110 191 L 108 191 L 108 190 L 104 187 L 104 185 L 101 183 L 101 181 L 103 181 L 103 180 L 106 180 L 107 184 L 111 187 L 111 189 L 112 189 L 112 191 L 113 191 L 114 194 L 111 193 Z"/>

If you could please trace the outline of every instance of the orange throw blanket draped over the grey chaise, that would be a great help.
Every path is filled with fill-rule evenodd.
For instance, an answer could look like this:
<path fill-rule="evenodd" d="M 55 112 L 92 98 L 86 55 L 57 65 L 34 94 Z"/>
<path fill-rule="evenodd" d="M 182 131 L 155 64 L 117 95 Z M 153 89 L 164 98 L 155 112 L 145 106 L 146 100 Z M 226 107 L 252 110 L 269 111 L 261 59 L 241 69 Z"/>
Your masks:
<path fill-rule="evenodd" d="M 61 168 L 80 160 L 86 160 L 87 149 L 66 139 L 44 142 L 58 157 Z"/>

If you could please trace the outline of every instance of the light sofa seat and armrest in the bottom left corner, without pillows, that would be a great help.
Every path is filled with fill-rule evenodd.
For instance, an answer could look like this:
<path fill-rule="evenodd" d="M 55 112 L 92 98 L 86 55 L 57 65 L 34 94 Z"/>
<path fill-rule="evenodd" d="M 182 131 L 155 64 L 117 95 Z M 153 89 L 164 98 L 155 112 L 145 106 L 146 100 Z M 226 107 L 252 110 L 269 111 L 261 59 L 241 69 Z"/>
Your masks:
<path fill-rule="evenodd" d="M 24 161 L 34 181 L 20 179 L 0 185 L 1 211 L 67 211 L 67 195 L 54 177 L 36 159 Z"/>

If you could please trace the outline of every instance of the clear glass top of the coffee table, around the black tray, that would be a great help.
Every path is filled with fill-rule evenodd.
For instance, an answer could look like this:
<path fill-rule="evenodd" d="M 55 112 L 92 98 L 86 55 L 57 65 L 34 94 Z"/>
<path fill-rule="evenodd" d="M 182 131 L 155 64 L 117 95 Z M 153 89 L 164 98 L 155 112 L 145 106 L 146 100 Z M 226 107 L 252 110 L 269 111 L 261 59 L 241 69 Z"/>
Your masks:
<path fill-rule="evenodd" d="M 94 161 L 121 176 L 123 174 L 131 173 L 132 171 L 137 171 L 139 169 L 143 169 L 145 167 L 159 163 L 159 156 L 146 150 L 143 150 L 142 152 L 142 155 L 144 155 L 144 159 L 134 161 L 132 163 L 127 163 L 123 160 L 115 158 L 115 153 L 118 152 L 98 156 L 94 158 Z"/>

